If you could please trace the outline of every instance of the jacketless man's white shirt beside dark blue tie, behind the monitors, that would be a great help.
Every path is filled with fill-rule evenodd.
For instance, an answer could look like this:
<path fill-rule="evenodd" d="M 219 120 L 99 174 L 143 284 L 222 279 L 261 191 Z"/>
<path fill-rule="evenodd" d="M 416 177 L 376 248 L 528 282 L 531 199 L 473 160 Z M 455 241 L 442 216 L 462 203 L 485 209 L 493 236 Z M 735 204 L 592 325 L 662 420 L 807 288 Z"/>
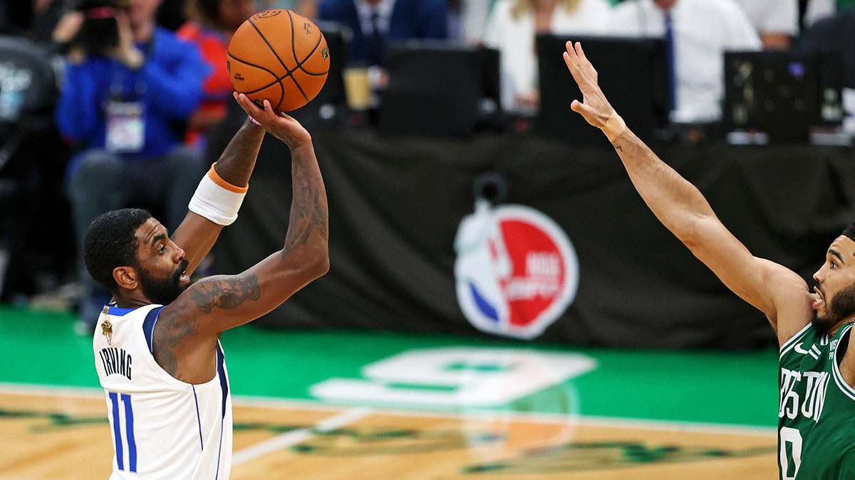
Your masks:
<path fill-rule="evenodd" d="M 671 120 L 678 123 L 720 120 L 724 52 L 760 50 L 760 38 L 734 0 L 678 0 L 670 15 L 677 83 L 676 108 Z M 665 14 L 652 0 L 629 0 L 616 7 L 613 25 L 618 35 L 661 38 L 665 35 Z M 593 63 L 596 66 L 596 61 Z"/>

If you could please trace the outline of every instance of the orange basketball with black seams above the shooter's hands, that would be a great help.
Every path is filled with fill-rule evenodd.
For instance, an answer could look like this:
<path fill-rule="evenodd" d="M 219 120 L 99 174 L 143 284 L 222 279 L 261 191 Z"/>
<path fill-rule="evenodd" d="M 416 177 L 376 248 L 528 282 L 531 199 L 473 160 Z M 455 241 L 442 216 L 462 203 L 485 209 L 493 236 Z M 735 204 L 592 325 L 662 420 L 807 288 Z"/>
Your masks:
<path fill-rule="evenodd" d="M 252 15 L 228 44 L 234 90 L 274 112 L 289 112 L 315 98 L 329 72 L 329 48 L 311 20 L 291 10 Z"/>

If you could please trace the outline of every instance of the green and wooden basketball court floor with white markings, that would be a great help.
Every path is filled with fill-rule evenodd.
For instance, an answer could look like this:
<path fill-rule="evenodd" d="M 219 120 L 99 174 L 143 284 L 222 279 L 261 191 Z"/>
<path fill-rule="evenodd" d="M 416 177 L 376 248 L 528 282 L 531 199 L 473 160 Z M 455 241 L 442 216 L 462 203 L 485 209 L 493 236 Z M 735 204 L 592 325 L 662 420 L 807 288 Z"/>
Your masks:
<path fill-rule="evenodd" d="M 0 479 L 109 477 L 91 337 L 0 308 Z M 777 353 L 226 332 L 234 479 L 777 476 Z"/>

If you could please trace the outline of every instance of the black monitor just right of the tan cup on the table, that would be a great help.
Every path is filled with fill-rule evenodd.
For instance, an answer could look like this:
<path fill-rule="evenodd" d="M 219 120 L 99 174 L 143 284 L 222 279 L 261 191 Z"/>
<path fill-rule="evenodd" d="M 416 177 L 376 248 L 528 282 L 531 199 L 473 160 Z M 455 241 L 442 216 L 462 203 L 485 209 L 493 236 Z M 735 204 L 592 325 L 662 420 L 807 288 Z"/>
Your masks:
<path fill-rule="evenodd" d="M 380 133 L 464 137 L 499 125 L 496 50 L 429 40 L 392 44 L 386 71 Z"/>

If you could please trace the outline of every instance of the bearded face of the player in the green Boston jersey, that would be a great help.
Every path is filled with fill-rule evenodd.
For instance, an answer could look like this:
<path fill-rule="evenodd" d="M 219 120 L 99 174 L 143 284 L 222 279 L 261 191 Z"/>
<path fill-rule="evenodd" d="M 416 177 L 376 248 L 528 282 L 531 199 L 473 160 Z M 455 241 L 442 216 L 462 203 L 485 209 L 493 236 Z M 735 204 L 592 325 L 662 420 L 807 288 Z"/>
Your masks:
<path fill-rule="evenodd" d="M 813 307 L 828 328 L 855 313 L 855 242 L 841 235 L 825 254 L 825 263 L 813 274 Z"/>

